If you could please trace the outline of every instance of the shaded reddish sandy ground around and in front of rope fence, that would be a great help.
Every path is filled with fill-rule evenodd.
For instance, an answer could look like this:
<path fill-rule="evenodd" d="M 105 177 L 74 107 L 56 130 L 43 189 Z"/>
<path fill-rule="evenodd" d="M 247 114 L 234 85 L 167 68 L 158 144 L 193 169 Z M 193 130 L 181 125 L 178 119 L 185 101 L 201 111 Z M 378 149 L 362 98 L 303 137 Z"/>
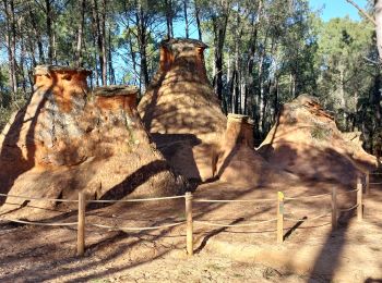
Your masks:
<path fill-rule="evenodd" d="M 284 189 L 287 196 L 330 192 L 333 184 Z M 235 188 L 206 184 L 194 198 L 275 198 L 277 188 Z M 339 188 L 345 192 L 345 188 Z M 1 282 L 381 282 L 382 187 L 365 200 L 365 219 L 350 213 L 331 231 L 331 217 L 286 221 L 284 244 L 277 245 L 275 222 L 220 229 L 194 224 L 193 257 L 186 255 L 184 225 L 142 233 L 109 231 L 92 223 L 157 225 L 181 221 L 183 200 L 123 204 L 88 210 L 86 256 L 75 257 L 75 227 L 0 224 Z M 296 201 L 295 201 L 296 202 Z M 286 216 L 308 220 L 330 209 L 330 197 L 286 202 Z M 342 207 L 354 198 L 342 198 Z M 27 210 L 29 208 L 24 208 Z M 262 204 L 196 204 L 194 220 L 255 223 L 275 218 L 274 201 Z M 56 213 L 56 212 L 55 212 Z M 23 213 L 21 213 L 23 214 Z M 45 217 L 47 212 L 44 212 Z M 75 221 L 75 211 L 51 220 Z M 140 219 L 140 221 L 136 221 Z"/>

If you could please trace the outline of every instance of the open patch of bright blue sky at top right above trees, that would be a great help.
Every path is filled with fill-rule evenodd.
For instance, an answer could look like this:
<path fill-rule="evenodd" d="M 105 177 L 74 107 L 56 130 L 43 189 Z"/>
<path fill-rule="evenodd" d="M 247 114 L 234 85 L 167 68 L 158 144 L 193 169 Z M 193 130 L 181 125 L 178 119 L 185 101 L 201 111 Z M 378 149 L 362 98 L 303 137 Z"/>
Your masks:
<path fill-rule="evenodd" d="M 367 0 L 354 0 L 360 8 L 366 9 Z M 350 19 L 359 21 L 358 10 L 346 0 L 309 0 L 309 4 L 314 10 L 322 10 L 321 17 L 327 22 L 333 17 L 344 17 L 349 15 Z"/>

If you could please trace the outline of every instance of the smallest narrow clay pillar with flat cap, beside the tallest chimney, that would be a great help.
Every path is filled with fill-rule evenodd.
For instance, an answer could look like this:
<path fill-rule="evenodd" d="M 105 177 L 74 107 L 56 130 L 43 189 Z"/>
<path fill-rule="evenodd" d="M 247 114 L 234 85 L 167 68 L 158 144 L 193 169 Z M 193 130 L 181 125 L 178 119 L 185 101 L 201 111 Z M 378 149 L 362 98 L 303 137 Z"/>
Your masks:
<path fill-rule="evenodd" d="M 227 130 L 218 157 L 219 180 L 240 186 L 291 184 L 298 179 L 277 170 L 253 148 L 253 122 L 247 115 L 228 114 Z"/>

